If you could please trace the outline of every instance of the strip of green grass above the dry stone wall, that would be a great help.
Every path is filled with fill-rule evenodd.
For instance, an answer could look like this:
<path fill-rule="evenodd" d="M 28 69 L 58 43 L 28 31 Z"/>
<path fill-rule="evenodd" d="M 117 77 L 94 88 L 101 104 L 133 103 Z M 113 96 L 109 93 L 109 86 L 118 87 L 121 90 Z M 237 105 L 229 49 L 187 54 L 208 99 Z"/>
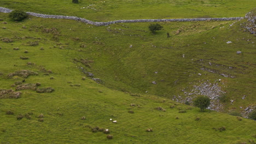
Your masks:
<path fill-rule="evenodd" d="M 2 0 L 1 7 L 34 13 L 69 15 L 92 21 L 124 19 L 173 19 L 194 17 L 238 17 L 255 7 L 255 0 Z M 68 10 L 67 10 L 68 9 Z"/>

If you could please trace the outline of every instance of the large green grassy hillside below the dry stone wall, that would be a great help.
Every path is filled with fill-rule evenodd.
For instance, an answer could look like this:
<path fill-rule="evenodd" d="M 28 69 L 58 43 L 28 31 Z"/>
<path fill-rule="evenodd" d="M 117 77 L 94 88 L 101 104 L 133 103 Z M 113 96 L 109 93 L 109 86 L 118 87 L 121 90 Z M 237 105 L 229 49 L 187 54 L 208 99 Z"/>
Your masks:
<path fill-rule="evenodd" d="M 55 90 L 37 93 L 34 86 L 24 85 L 24 90 L 18 90 L 21 98 L 0 99 L 1 143 L 256 141 L 255 121 L 239 121 L 210 110 L 200 112 L 171 100 L 173 95 L 188 97 L 184 92 L 206 82 L 218 83 L 226 92 L 224 110 L 239 111 L 240 106 L 243 110 L 255 104 L 255 37 L 243 32 L 240 22 L 231 27 L 234 21 L 160 23 L 164 29 L 153 35 L 148 31 L 149 23 L 93 27 L 37 17 L 13 22 L 2 13 L 0 19 L 0 89 L 40 83 L 38 88 Z M 90 79 L 81 67 L 101 81 Z M 37 75 L 10 75 L 20 70 Z M 235 101 L 230 104 L 230 100 Z M 14 114 L 7 115 L 7 111 Z M 28 119 L 26 113 L 30 113 Z M 40 113 L 43 122 L 39 122 Z M 24 118 L 17 120 L 19 115 Z M 100 131 L 93 133 L 95 127 L 109 129 L 113 140 Z M 226 130 L 218 130 L 222 127 Z M 146 132 L 148 128 L 153 132 Z"/>

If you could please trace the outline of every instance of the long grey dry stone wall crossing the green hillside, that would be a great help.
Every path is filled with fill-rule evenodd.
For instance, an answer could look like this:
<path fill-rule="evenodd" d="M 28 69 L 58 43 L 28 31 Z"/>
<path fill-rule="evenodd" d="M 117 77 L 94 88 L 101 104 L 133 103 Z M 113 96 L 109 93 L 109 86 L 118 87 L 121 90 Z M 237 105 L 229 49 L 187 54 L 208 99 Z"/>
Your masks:
<path fill-rule="evenodd" d="M 10 13 L 12 10 L 0 7 L 0 12 L 2 13 Z M 90 20 L 86 20 L 80 17 L 75 16 L 63 16 L 63 15 L 44 15 L 44 14 L 37 14 L 26 12 L 28 15 L 48 18 L 48 19 L 68 19 L 68 20 L 75 20 L 81 21 L 84 23 L 88 23 L 94 26 L 108 26 L 114 23 L 131 23 L 131 22 L 185 22 L 185 21 L 233 21 L 233 20 L 240 20 L 242 17 L 223 17 L 223 18 L 194 18 L 194 19 L 139 19 L 139 20 L 117 20 L 117 21 L 109 21 L 109 22 L 94 22 Z"/>

